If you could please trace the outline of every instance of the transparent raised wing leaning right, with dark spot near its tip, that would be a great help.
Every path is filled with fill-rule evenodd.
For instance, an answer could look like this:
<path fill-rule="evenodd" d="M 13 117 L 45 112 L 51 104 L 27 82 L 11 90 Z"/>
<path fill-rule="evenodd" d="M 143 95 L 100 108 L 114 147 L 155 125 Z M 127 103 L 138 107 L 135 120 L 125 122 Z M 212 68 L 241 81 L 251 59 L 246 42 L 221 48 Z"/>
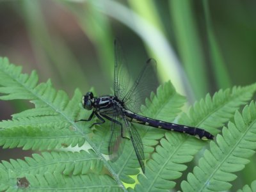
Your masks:
<path fill-rule="evenodd" d="M 141 104 L 145 103 L 146 97 L 149 97 L 159 84 L 156 78 L 156 65 L 156 60 L 147 60 L 130 90 L 125 93 L 123 98 L 125 107 L 134 113 L 140 111 Z"/>

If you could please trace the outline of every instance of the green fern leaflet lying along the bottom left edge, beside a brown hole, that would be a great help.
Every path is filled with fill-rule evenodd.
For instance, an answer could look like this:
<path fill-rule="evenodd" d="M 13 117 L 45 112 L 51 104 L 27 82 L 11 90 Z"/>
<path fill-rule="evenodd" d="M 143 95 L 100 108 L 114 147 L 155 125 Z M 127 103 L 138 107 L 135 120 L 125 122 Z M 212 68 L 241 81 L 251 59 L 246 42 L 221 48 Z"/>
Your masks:
<path fill-rule="evenodd" d="M 0 171 L 0 177 L 6 177 L 1 182 L 1 191 L 121 191 L 120 186 L 108 175 L 61 175 L 58 172 L 44 174 L 26 174 L 26 184 L 18 184 L 16 178 L 8 181 L 8 172 Z M 24 180 L 25 180 L 24 179 Z"/>

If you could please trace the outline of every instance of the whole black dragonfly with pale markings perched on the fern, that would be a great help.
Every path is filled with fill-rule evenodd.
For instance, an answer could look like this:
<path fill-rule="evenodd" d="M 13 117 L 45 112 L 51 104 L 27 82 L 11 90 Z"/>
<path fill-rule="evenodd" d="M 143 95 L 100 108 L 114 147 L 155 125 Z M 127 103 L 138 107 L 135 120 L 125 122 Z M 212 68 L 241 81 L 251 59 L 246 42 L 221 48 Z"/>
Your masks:
<path fill-rule="evenodd" d="M 112 122 L 108 150 L 113 159 L 115 158 L 114 156 L 121 138 L 128 137 L 132 141 L 141 169 L 143 173 L 145 173 L 143 143 L 140 134 L 132 123 L 148 125 L 168 131 L 184 132 L 202 140 L 213 139 L 212 134 L 204 129 L 163 122 L 161 120 L 148 118 L 147 116 L 138 115 L 140 106 L 145 100 L 145 96 L 148 96 L 152 91 L 147 81 L 148 77 L 154 76 L 156 61 L 149 59 L 141 70 L 140 75 L 131 86 L 129 86 L 128 83 L 129 77 L 127 77 L 124 62 L 122 47 L 120 43 L 115 40 L 114 95 L 95 97 L 92 92 L 86 93 L 82 99 L 83 108 L 92 110 L 92 114 L 87 120 L 78 120 L 90 121 L 95 115 L 99 118 L 100 122 L 96 122 L 92 124 L 92 126 L 104 124 L 105 119 Z"/>

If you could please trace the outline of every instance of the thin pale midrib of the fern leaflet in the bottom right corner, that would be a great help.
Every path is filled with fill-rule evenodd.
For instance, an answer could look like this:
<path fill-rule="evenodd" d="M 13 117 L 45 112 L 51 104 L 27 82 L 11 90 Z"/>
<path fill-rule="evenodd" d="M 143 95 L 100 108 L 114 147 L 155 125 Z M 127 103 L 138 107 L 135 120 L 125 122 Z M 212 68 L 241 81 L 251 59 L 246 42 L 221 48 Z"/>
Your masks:
<path fill-rule="evenodd" d="M 207 183 L 210 182 L 210 180 L 212 179 L 212 177 L 214 176 L 214 174 L 219 170 L 220 166 L 225 163 L 225 161 L 227 160 L 227 158 L 230 156 L 230 154 L 232 154 L 232 152 L 236 149 L 237 145 L 239 145 L 239 143 L 241 142 L 241 140 L 244 138 L 244 136 L 248 133 L 248 131 L 250 131 L 251 127 L 253 124 L 255 124 L 256 120 L 254 120 L 250 126 L 248 126 L 248 129 L 246 129 L 244 131 L 244 133 L 241 135 L 241 137 L 239 138 L 239 140 L 236 142 L 236 145 L 234 145 L 234 147 L 232 148 L 232 150 L 230 150 L 227 154 L 227 156 L 220 162 L 220 164 L 218 164 L 218 166 L 216 167 L 216 169 L 211 173 L 211 175 L 209 175 L 208 179 L 204 182 L 204 185 L 202 186 L 202 188 L 200 188 L 199 191 L 204 191 L 204 188 L 206 187 Z M 224 139 L 224 138 L 223 138 Z M 213 141 L 212 141 L 213 142 Z M 232 146 L 232 145 L 231 145 Z M 219 147 L 220 148 L 220 147 Z M 221 150 L 221 149 L 220 149 Z"/>

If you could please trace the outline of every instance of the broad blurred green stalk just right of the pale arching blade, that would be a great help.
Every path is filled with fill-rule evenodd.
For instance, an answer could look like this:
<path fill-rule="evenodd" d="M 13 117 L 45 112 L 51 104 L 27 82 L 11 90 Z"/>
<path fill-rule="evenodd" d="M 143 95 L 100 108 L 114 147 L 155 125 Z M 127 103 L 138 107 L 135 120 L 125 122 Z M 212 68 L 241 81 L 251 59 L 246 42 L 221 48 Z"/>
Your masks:
<path fill-rule="evenodd" d="M 209 80 L 191 1 L 170 1 L 170 12 L 180 60 L 184 64 L 196 99 L 202 98 L 208 92 Z"/>

